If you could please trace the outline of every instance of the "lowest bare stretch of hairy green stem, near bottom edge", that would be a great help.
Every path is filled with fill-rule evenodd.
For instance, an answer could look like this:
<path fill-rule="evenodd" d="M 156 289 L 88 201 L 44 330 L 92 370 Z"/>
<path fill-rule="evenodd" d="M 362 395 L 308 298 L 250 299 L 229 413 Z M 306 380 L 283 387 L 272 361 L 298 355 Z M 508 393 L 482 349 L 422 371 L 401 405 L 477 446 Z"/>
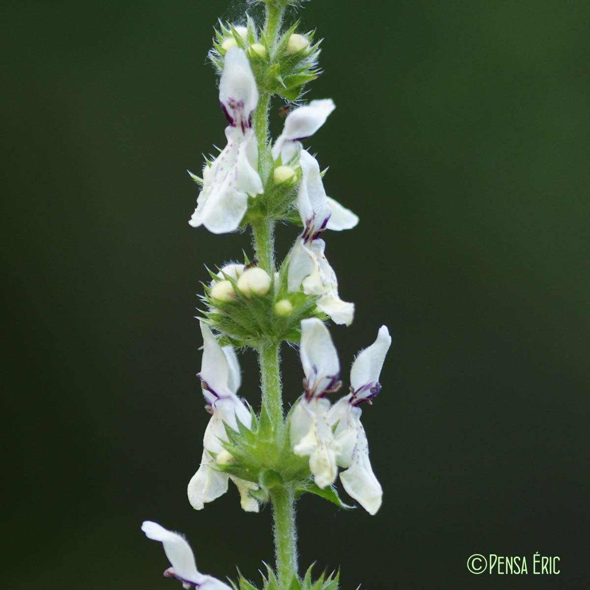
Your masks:
<path fill-rule="evenodd" d="M 287 590 L 297 573 L 297 527 L 293 490 L 275 487 L 271 491 L 274 519 L 274 550 L 277 558 L 278 585 Z"/>

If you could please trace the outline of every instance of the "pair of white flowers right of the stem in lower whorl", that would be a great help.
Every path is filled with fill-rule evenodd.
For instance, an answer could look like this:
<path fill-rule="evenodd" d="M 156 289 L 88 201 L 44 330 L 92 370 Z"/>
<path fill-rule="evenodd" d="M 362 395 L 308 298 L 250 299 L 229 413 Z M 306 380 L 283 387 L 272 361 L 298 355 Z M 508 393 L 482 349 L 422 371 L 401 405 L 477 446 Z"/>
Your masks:
<path fill-rule="evenodd" d="M 375 342 L 362 350 L 352 364 L 350 393 L 330 405 L 325 396 L 342 385 L 336 348 L 320 320 L 310 318 L 301 322 L 305 392 L 291 415 L 293 451 L 309 457 L 309 468 L 320 488 L 332 484 L 337 467 L 343 467 L 340 481 L 344 489 L 369 514 L 379 510 L 383 491 L 369 461 L 360 405 L 371 404 L 381 390 L 379 375 L 390 345 L 388 329 L 381 326 Z"/>

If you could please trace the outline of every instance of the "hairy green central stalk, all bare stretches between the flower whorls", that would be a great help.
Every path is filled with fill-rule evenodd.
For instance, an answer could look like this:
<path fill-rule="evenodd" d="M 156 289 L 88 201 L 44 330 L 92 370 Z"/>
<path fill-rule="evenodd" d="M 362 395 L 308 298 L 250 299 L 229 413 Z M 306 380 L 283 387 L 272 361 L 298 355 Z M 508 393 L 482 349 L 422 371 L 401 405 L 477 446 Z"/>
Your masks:
<path fill-rule="evenodd" d="M 268 0 L 266 4 L 266 21 L 264 32 L 270 45 L 271 58 L 278 40 L 283 21 L 284 6 L 282 2 Z M 268 110 L 270 95 L 261 93 L 258 106 L 254 112 L 253 127 L 258 142 L 259 155 L 268 149 Z M 259 266 L 264 268 L 272 278 L 276 265 L 274 261 L 274 225 L 275 222 L 263 217 L 251 222 L 254 235 L 254 248 Z M 267 337 L 258 347 L 260 378 L 262 385 L 262 404 L 268 413 L 277 441 L 287 436 L 283 417 L 283 396 L 281 394 L 281 375 L 279 360 L 280 343 L 273 335 Z M 273 487 L 270 493 L 273 506 L 274 550 L 278 584 L 281 590 L 288 590 L 291 579 L 297 575 L 297 527 L 295 524 L 294 490 L 289 486 Z"/>

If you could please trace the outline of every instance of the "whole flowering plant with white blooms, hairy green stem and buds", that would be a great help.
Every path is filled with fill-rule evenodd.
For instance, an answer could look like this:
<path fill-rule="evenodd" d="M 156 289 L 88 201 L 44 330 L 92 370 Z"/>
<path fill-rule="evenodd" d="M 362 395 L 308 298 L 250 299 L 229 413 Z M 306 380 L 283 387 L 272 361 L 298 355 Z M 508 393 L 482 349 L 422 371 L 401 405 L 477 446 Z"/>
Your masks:
<path fill-rule="evenodd" d="M 200 319 L 203 345 L 202 393 L 211 419 L 204 432 L 201 461 L 188 483 L 195 510 L 238 489 L 242 509 L 258 512 L 270 503 L 274 516 L 276 566 L 268 566 L 264 588 L 336 590 L 339 575 L 311 578 L 297 564 L 295 503 L 304 493 L 337 506 L 339 468 L 343 489 L 369 514 L 382 502 L 382 488 L 369 461 L 360 422 L 363 404 L 379 393 L 379 376 L 391 345 L 388 329 L 362 350 L 350 369 L 349 393 L 332 403 L 340 381 L 340 361 L 326 322 L 349 326 L 354 305 L 340 299 L 336 274 L 326 258 L 326 231 L 354 227 L 358 217 L 326 195 L 316 158 L 303 141 L 316 133 L 335 109 L 331 99 L 301 103 L 303 87 L 319 74 L 319 43 L 312 33 L 283 28 L 287 5 L 297 0 L 264 0 L 261 27 L 220 24 L 209 58 L 220 74 L 219 101 L 227 117 L 227 145 L 208 159 L 198 176 L 201 185 L 189 221 L 215 234 L 250 227 L 254 258 L 227 263 L 210 272 Z M 268 134 L 271 97 L 292 103 L 283 132 Z M 274 229 L 278 222 L 301 227 L 289 254 L 277 265 Z M 280 348 L 299 345 L 303 393 L 285 415 L 281 392 Z M 261 404 L 238 397 L 237 351 L 257 351 Z M 184 588 L 221 590 L 230 586 L 198 571 L 188 543 L 178 533 L 146 521 L 149 539 L 162 542 L 171 568 L 165 576 Z M 252 590 L 241 575 L 234 589 Z"/>

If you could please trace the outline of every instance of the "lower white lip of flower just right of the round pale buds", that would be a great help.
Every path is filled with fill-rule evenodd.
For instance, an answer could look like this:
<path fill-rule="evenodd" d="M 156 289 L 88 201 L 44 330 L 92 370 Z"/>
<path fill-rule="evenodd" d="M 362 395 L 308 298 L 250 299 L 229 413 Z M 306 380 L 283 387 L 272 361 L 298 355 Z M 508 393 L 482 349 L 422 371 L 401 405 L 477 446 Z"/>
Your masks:
<path fill-rule="evenodd" d="M 355 315 L 355 305 L 340 299 L 336 273 L 327 261 L 326 242 L 318 236 L 324 230 L 317 218 L 306 226 L 289 254 L 287 289 L 306 295 L 319 295 L 317 307 L 337 324 L 349 326 Z"/>

